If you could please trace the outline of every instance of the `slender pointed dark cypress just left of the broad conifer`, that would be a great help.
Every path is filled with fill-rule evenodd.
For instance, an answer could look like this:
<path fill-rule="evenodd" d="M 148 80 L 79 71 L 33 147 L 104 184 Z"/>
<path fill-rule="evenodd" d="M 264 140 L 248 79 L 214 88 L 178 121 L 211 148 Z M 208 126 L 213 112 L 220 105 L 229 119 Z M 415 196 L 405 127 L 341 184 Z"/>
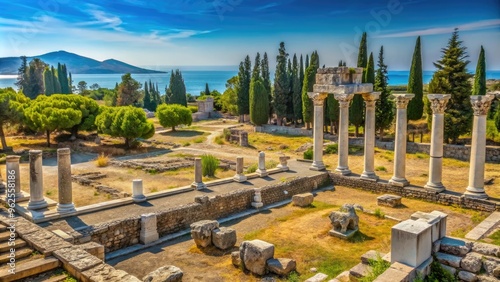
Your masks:
<path fill-rule="evenodd" d="M 410 77 L 406 92 L 415 94 L 408 103 L 408 119 L 419 120 L 424 113 L 424 85 L 422 80 L 422 52 L 420 51 L 420 36 L 415 43 L 413 59 L 411 61 Z"/>

